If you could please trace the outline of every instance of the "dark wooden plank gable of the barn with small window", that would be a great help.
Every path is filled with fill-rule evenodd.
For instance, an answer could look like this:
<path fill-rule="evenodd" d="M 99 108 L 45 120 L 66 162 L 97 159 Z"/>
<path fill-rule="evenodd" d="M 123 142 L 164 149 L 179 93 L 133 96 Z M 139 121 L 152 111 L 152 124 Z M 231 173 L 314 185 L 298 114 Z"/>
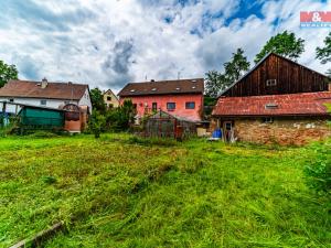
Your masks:
<path fill-rule="evenodd" d="M 244 97 L 328 90 L 328 77 L 270 53 L 222 96 Z"/>

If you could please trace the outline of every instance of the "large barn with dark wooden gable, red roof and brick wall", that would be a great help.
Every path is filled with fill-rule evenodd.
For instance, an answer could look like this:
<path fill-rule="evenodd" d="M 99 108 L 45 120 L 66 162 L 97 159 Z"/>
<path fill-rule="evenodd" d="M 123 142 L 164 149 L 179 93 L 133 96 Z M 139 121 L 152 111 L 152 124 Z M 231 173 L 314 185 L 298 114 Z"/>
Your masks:
<path fill-rule="evenodd" d="M 303 144 L 331 136 L 327 76 L 280 55 L 265 56 L 225 89 L 213 110 L 213 129 L 225 140 Z"/>

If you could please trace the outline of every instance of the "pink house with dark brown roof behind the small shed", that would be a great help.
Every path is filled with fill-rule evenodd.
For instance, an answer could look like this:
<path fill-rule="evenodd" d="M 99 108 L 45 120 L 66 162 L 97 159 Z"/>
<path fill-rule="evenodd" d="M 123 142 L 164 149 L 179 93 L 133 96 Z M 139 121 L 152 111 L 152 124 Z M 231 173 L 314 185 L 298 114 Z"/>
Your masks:
<path fill-rule="evenodd" d="M 200 121 L 203 112 L 203 78 L 129 83 L 119 91 L 119 101 L 131 99 L 138 118 L 163 110 L 172 116 Z"/>

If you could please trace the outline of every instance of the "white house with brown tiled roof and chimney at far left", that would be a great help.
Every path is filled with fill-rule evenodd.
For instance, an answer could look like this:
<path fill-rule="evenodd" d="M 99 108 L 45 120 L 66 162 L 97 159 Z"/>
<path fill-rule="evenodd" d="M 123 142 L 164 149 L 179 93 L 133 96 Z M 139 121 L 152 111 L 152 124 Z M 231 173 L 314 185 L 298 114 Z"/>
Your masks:
<path fill-rule="evenodd" d="M 6 112 L 17 114 L 19 105 L 60 108 L 66 104 L 87 106 L 92 111 L 88 85 L 68 83 L 49 83 L 31 80 L 9 80 L 0 88 L 0 111 L 6 105 Z M 11 104 L 12 103 L 12 104 Z"/>

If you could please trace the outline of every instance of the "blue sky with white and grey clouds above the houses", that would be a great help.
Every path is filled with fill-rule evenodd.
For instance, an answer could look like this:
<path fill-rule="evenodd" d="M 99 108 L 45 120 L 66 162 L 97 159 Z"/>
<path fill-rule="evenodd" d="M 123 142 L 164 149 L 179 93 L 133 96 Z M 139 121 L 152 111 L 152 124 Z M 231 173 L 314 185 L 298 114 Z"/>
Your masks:
<path fill-rule="evenodd" d="M 299 62 L 314 60 L 330 29 L 300 29 L 300 11 L 331 0 L 0 0 L 0 60 L 21 79 L 88 83 L 116 91 L 146 78 L 203 77 L 237 47 L 249 61 L 289 30 L 306 40 Z"/>

